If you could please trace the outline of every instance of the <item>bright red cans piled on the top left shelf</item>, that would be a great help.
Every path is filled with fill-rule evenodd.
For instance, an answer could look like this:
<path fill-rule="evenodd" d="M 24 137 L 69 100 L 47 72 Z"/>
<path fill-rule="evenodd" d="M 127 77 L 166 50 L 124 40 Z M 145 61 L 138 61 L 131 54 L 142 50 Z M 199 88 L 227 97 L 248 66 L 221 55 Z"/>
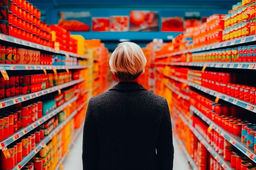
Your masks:
<path fill-rule="evenodd" d="M 7 21 L 9 20 L 9 35 L 17 38 L 53 46 L 50 27 L 40 20 L 41 13 L 26 0 L 13 0 L 7 10 Z"/>

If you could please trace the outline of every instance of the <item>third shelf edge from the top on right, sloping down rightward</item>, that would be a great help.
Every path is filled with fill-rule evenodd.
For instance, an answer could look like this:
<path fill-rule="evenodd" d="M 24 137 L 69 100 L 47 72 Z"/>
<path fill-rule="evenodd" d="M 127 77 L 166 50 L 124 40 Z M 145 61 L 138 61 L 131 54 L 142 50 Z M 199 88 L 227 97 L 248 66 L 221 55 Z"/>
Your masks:
<path fill-rule="evenodd" d="M 239 106 L 241 108 L 244 108 L 244 109 L 247 109 L 247 110 L 250 110 L 250 111 L 256 113 L 256 105 L 254 105 L 254 104 L 250 104 L 249 102 L 245 102 L 245 101 L 237 99 L 235 97 L 231 97 L 229 95 L 225 95 L 223 93 L 214 91 L 214 90 L 212 90 L 210 88 L 201 86 L 199 84 L 195 84 L 193 82 L 189 82 L 189 81 L 184 80 L 184 79 L 177 78 L 175 76 L 168 76 L 168 75 L 164 75 L 164 76 L 169 77 L 171 79 L 174 79 L 177 82 L 182 82 L 182 83 L 187 84 L 187 85 L 189 85 L 191 87 L 197 88 L 198 90 L 200 90 L 200 91 L 202 91 L 204 93 L 207 93 L 209 95 L 218 97 L 219 99 L 225 100 L 226 102 L 229 102 L 231 104 L 234 104 L 236 106 Z"/>

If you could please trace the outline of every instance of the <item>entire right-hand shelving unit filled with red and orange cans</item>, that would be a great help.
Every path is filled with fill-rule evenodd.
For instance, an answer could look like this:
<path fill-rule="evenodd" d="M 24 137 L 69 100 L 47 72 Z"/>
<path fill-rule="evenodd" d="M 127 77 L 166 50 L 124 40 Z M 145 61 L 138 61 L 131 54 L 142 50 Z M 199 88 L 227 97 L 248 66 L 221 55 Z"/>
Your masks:
<path fill-rule="evenodd" d="M 155 92 L 194 170 L 256 169 L 254 9 L 243 0 L 155 52 Z"/>

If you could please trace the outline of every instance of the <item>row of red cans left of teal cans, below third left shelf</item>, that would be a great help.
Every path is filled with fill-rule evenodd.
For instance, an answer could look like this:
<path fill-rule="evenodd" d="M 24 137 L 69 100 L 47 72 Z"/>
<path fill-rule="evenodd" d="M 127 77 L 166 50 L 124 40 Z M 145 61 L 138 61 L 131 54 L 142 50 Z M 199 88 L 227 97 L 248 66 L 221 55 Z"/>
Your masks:
<path fill-rule="evenodd" d="M 21 128 L 42 117 L 42 102 L 38 101 L 27 106 L 17 107 L 11 111 L 0 113 L 0 141 L 9 138 Z"/>

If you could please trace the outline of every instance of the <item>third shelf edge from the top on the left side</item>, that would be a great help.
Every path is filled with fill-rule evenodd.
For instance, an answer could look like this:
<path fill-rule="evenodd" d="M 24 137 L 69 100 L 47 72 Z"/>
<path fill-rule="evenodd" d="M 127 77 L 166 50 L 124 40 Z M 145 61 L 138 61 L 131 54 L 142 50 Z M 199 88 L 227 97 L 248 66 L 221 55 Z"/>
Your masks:
<path fill-rule="evenodd" d="M 24 101 L 27 101 L 27 100 L 30 100 L 30 99 L 34 99 L 36 97 L 40 97 L 40 96 L 43 96 L 43 95 L 46 95 L 46 94 L 49 94 L 49 93 L 53 93 L 55 91 L 59 91 L 60 89 L 67 88 L 69 86 L 73 86 L 74 84 L 78 84 L 78 83 L 83 82 L 83 81 L 84 81 L 84 79 L 78 79 L 78 80 L 74 80 L 72 82 L 68 82 L 68 83 L 65 83 L 65 84 L 61 84 L 61 85 L 58 85 L 58 86 L 47 88 L 45 90 L 38 91 L 38 92 L 35 92 L 35 93 L 29 93 L 27 95 L 19 95 L 19 96 L 16 96 L 16 97 L 9 97 L 7 99 L 2 99 L 2 100 L 0 100 L 0 108 L 8 107 L 8 106 L 20 103 L 20 102 L 24 102 Z"/>

